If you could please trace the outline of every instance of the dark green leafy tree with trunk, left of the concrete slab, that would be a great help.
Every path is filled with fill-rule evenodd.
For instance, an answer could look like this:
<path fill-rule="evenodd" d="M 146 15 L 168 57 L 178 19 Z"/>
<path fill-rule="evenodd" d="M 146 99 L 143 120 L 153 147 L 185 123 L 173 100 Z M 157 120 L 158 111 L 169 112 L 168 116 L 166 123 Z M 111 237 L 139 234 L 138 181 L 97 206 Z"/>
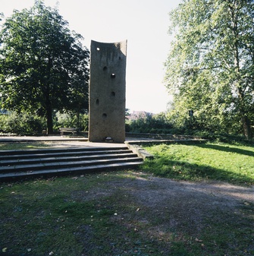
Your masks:
<path fill-rule="evenodd" d="M 2 108 L 45 115 L 51 134 L 53 109 L 88 105 L 89 51 L 57 9 L 36 1 L 14 11 L 0 38 Z"/>

